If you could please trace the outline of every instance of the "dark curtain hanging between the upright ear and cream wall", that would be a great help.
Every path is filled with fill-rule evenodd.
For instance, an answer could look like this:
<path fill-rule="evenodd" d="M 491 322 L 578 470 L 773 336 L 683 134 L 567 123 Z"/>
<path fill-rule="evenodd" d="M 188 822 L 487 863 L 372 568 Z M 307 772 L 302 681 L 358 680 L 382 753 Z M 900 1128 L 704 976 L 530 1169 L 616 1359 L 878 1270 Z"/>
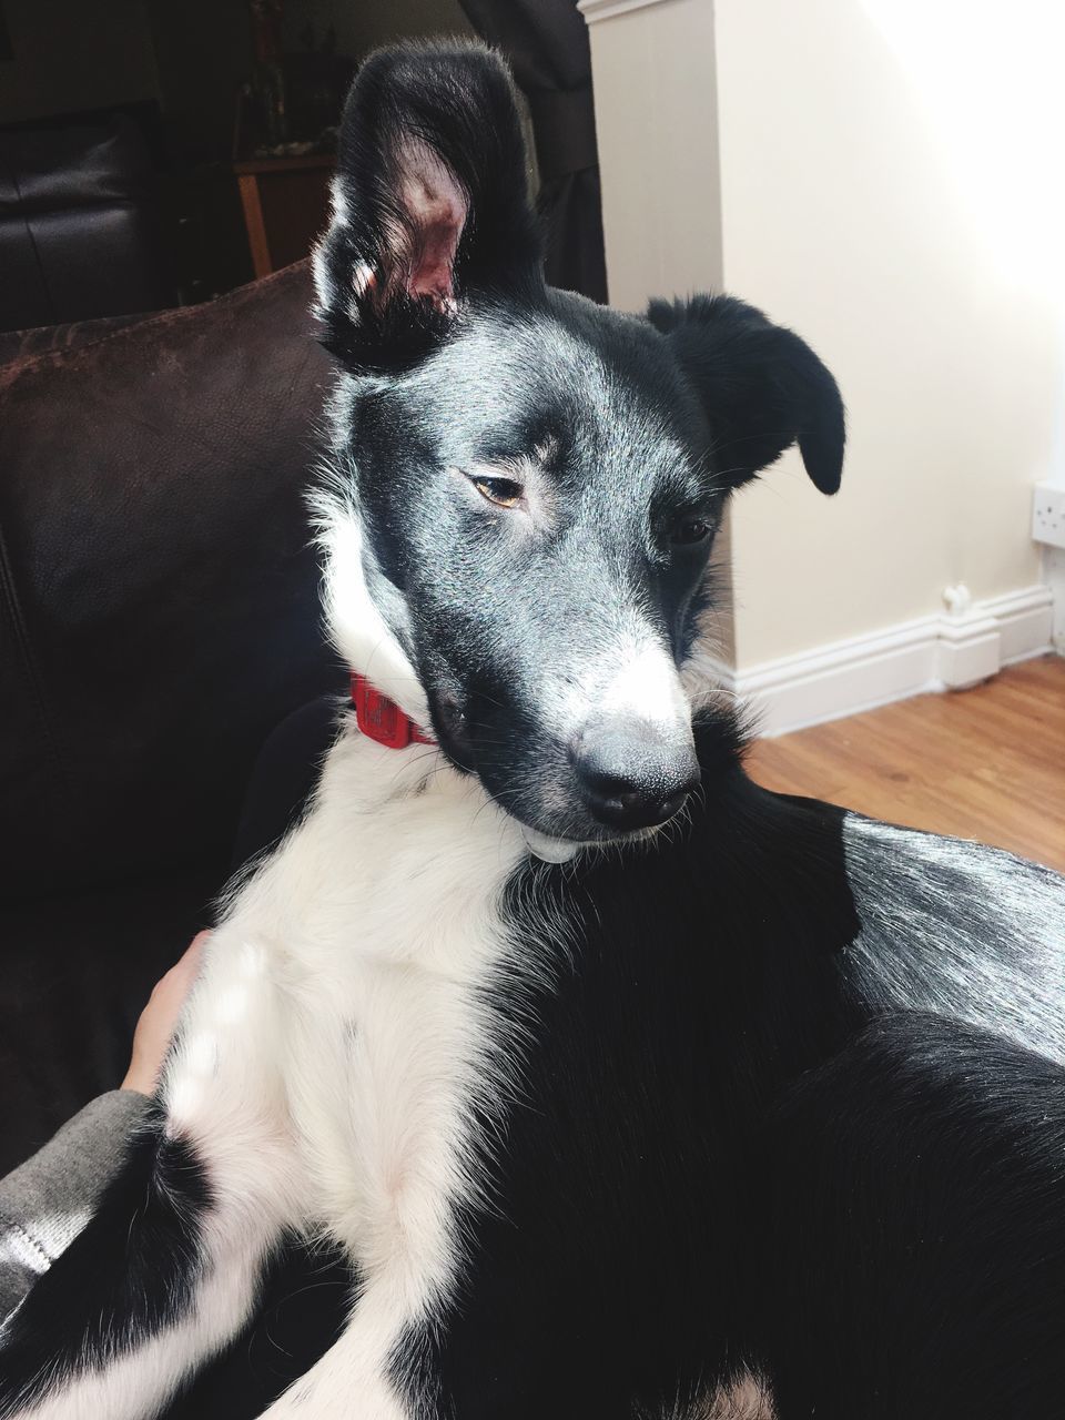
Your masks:
<path fill-rule="evenodd" d="M 460 0 L 528 99 L 551 285 L 606 300 L 592 57 L 577 0 Z"/>

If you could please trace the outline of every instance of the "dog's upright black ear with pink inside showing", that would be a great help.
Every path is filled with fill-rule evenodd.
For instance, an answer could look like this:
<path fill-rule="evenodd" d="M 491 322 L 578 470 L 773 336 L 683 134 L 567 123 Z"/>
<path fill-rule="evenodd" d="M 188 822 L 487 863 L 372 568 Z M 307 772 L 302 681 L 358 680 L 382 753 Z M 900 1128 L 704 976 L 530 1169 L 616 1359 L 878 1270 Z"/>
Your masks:
<path fill-rule="evenodd" d="M 348 97 L 334 220 L 315 253 L 325 344 L 403 369 L 477 290 L 542 283 L 510 74 L 479 44 L 378 50 Z"/>

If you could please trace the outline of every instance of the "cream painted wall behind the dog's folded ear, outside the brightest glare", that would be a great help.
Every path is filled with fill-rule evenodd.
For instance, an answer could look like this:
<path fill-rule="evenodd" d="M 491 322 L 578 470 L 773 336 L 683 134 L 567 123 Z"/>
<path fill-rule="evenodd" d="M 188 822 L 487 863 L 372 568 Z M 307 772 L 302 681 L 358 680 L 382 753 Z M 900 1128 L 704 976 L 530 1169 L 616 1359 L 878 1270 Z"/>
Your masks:
<path fill-rule="evenodd" d="M 927 0 L 924 13 L 947 7 Z M 636 307 L 649 274 L 683 293 L 720 273 L 818 349 L 849 409 L 835 500 L 794 454 L 736 500 L 741 669 L 940 611 L 958 581 L 977 599 L 1039 581 L 1028 530 L 1052 452 L 1055 301 L 1030 253 L 994 230 L 995 185 L 1018 200 L 1008 153 L 988 153 L 974 193 L 949 62 L 912 64 L 876 23 L 882 9 L 665 0 L 592 26 L 612 300 Z M 1048 37 L 1010 31 L 1008 9 L 997 17 L 1003 67 L 1022 78 L 1025 44 Z M 1004 98 L 997 68 L 985 101 Z M 655 169 L 656 148 L 683 158 Z"/>

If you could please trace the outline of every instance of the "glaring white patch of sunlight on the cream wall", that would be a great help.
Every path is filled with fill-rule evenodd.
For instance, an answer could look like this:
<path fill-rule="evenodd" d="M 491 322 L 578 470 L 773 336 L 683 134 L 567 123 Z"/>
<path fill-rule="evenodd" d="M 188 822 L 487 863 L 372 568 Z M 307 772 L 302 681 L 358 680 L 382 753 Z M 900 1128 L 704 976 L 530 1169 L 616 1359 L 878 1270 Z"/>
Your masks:
<path fill-rule="evenodd" d="M 1065 4 L 863 0 L 1005 281 L 1065 318 Z"/>

